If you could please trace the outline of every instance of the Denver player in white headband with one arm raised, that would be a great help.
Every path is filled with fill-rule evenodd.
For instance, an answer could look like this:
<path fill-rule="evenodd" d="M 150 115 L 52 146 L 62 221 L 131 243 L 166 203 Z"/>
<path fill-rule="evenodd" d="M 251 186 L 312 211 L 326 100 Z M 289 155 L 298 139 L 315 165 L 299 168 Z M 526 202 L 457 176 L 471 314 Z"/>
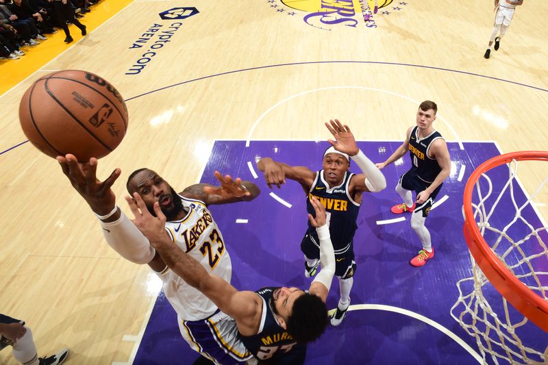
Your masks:
<path fill-rule="evenodd" d="M 264 179 L 270 188 L 286 183 L 286 178 L 297 181 L 304 190 L 307 199 L 306 209 L 314 214 L 310 197 L 316 197 L 327 210 L 329 232 L 336 257 L 335 275 L 340 285 L 340 299 L 337 310 L 332 316 L 332 325 L 339 325 L 345 318 L 350 305 L 350 291 L 353 275 L 356 272 L 354 261 L 353 237 L 358 225 L 356 220 L 362 202 L 363 192 L 379 192 L 386 188 L 386 179 L 379 169 L 358 149 L 356 140 L 347 125 L 338 120 L 325 123 L 335 140 L 329 140 L 332 147 L 323 153 L 323 165 L 320 171 L 311 171 L 306 166 L 291 166 L 276 162 L 271 158 L 262 158 L 257 166 L 264 171 Z M 349 173 L 350 160 L 353 160 L 362 174 Z M 319 238 L 312 225 L 308 225 L 301 241 L 304 253 L 305 276 L 311 277 L 321 263 Z"/>

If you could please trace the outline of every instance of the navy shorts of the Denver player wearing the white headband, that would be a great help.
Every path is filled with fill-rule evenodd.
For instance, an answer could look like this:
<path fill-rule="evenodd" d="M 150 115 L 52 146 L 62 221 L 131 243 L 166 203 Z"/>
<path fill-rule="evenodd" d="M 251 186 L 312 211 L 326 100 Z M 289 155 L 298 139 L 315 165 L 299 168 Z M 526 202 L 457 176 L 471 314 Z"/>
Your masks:
<path fill-rule="evenodd" d="M 320 241 L 318 236 L 308 232 L 301 241 L 301 251 L 309 259 L 320 258 Z M 354 261 L 354 242 L 351 241 L 342 249 L 335 249 L 335 275 L 341 279 L 349 279 L 356 273 L 356 262 Z"/>

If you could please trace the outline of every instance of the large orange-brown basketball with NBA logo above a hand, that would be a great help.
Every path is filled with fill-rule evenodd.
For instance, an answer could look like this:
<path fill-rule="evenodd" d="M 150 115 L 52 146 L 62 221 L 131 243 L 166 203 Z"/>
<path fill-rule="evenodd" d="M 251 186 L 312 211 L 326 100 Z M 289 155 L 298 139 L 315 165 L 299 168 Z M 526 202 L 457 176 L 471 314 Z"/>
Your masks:
<path fill-rule="evenodd" d="M 46 155 L 72 153 L 87 162 L 108 155 L 122 142 L 127 107 L 102 77 L 57 71 L 28 88 L 19 105 L 19 121 L 25 136 Z"/>

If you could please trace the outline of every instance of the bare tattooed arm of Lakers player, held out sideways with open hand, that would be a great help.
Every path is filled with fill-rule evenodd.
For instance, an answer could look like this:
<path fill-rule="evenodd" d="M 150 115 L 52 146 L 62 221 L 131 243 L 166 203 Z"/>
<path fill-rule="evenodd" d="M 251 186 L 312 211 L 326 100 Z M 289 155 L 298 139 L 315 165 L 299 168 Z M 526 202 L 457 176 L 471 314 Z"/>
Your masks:
<path fill-rule="evenodd" d="M 252 201 L 260 194 L 258 186 L 251 181 L 242 181 L 239 177 L 234 180 L 230 175 L 221 175 L 219 171 L 215 171 L 214 175 L 221 182 L 221 186 L 194 184 L 183 190 L 182 196 L 210 205 Z"/>

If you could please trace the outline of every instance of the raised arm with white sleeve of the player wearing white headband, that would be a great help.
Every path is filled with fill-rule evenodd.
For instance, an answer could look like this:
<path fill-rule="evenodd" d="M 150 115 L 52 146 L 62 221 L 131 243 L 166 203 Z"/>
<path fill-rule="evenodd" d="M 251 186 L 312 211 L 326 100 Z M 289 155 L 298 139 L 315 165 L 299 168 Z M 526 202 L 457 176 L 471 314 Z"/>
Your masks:
<path fill-rule="evenodd" d="M 369 191 L 379 192 L 386 188 L 386 179 L 380 172 L 379 168 L 358 149 L 356 139 L 350 131 L 348 125 L 343 125 L 338 119 L 325 123 L 325 127 L 329 129 L 336 140 L 327 140 L 339 152 L 346 153 L 350 156 L 353 162 L 356 162 L 362 175 L 358 175 L 358 179 L 353 181 L 353 187 L 357 192 Z"/>

